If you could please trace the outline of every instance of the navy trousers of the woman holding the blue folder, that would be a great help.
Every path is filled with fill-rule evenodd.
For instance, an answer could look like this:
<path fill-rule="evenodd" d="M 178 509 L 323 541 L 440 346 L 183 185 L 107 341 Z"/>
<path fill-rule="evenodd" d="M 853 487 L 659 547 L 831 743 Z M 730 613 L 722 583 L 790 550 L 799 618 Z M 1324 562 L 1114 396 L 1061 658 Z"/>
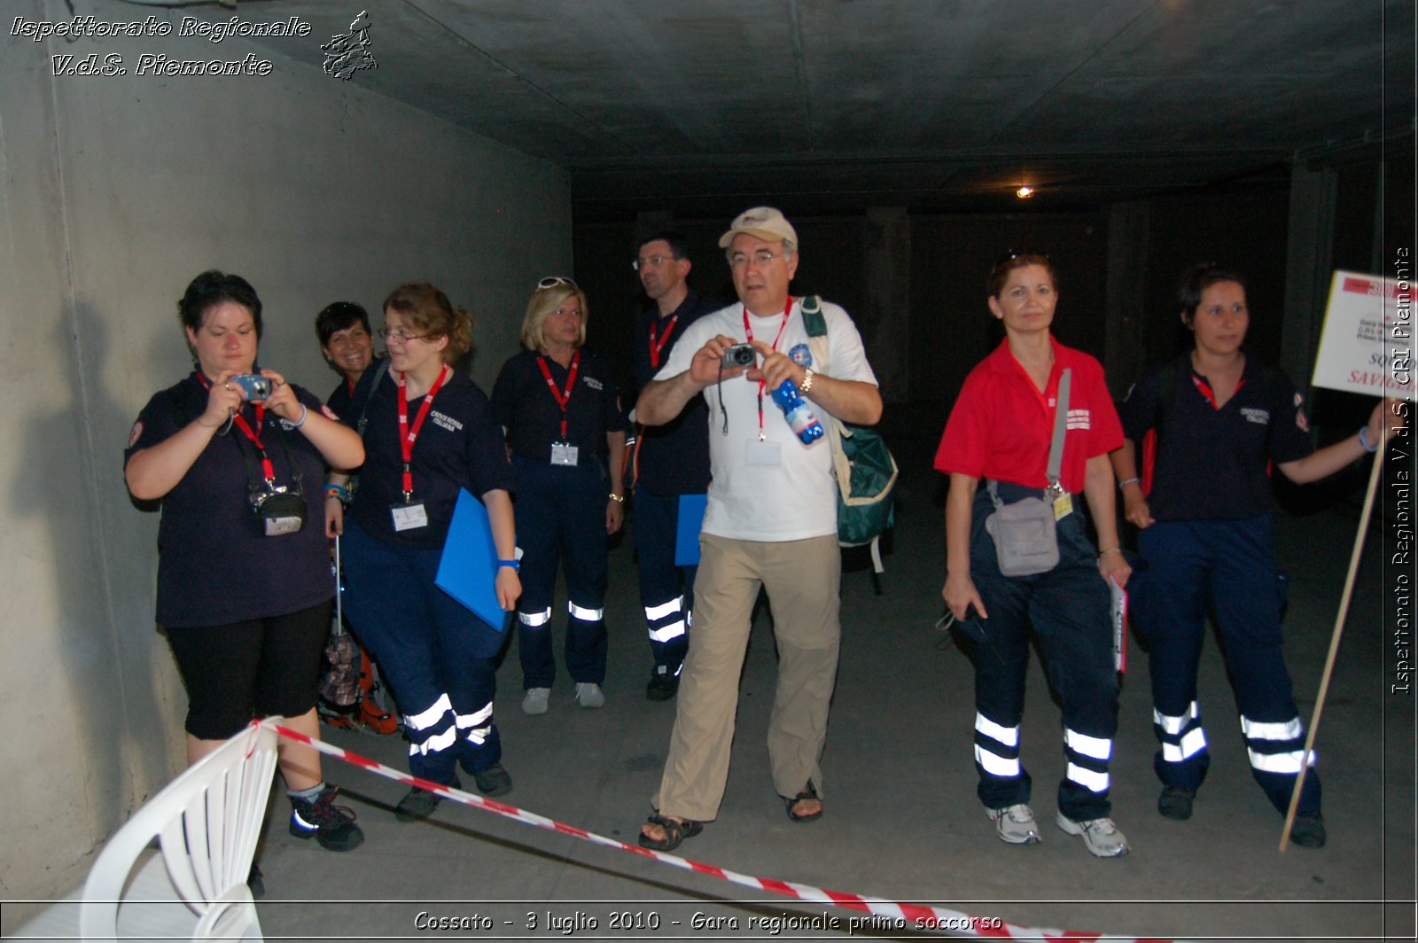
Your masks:
<path fill-rule="evenodd" d="M 408 770 L 450 784 L 502 759 L 493 659 L 506 637 L 434 584 L 441 547 L 400 547 L 349 518 L 340 540 L 345 611 L 394 689 Z"/>

